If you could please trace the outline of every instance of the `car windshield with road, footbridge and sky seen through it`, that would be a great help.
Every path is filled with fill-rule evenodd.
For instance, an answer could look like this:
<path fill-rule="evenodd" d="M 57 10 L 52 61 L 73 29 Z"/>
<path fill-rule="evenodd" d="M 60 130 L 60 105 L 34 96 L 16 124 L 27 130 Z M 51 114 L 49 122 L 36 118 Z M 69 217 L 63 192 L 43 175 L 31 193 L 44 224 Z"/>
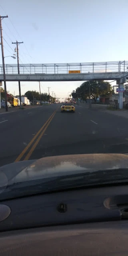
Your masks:
<path fill-rule="evenodd" d="M 127 7 L 125 0 L 0 4 L 1 200 L 30 195 L 33 186 L 127 182 Z M 125 39 L 117 40 L 118 28 Z"/>

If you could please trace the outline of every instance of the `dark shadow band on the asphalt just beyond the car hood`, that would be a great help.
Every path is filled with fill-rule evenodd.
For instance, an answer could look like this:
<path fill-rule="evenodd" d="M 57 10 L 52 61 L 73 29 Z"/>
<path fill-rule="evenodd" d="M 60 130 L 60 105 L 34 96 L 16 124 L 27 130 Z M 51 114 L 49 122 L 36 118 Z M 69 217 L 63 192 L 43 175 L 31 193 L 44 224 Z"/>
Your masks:
<path fill-rule="evenodd" d="M 128 153 L 128 142 L 121 138 L 104 140 L 86 140 L 72 144 L 62 144 L 35 150 L 32 158 L 42 158 L 46 156 L 59 156 L 67 154 L 102 154 L 102 153 Z M 31 159 L 32 159 L 31 158 Z"/>

